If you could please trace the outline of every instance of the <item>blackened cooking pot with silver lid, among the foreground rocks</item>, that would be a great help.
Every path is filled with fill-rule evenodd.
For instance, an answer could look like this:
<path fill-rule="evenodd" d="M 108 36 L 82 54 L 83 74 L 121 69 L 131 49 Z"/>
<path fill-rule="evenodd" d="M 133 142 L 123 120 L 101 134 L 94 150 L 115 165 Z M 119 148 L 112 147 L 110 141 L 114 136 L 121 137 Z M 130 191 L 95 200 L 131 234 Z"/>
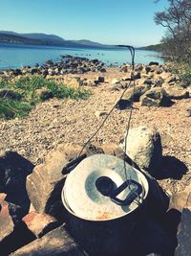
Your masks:
<path fill-rule="evenodd" d="M 61 194 L 76 242 L 90 255 L 128 255 L 148 191 L 145 176 L 116 156 L 83 159 Z"/>

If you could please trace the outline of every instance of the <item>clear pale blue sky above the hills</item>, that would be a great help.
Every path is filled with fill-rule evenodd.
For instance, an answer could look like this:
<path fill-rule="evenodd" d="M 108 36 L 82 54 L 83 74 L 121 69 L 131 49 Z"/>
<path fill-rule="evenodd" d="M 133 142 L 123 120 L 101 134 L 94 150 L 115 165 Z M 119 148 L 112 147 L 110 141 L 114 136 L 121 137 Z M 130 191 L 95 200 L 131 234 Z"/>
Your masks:
<path fill-rule="evenodd" d="M 154 22 L 167 0 L 0 0 L 0 30 L 143 46 L 159 43 Z"/>

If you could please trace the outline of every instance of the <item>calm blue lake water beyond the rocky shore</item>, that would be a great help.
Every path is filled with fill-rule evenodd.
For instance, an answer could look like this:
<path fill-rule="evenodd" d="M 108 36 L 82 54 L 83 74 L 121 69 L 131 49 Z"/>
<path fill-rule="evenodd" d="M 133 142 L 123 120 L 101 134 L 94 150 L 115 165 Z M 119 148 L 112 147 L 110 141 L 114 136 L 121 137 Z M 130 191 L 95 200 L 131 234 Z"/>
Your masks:
<path fill-rule="evenodd" d="M 53 46 L 29 46 L 0 44 L 0 69 L 20 68 L 35 63 L 43 64 L 47 59 L 60 60 L 60 55 L 72 55 L 85 58 L 98 58 L 107 65 L 121 65 L 123 62 L 131 62 L 129 50 L 108 49 L 77 49 Z M 163 63 L 159 53 L 153 51 L 136 51 L 136 63 L 147 64 L 150 61 Z"/>

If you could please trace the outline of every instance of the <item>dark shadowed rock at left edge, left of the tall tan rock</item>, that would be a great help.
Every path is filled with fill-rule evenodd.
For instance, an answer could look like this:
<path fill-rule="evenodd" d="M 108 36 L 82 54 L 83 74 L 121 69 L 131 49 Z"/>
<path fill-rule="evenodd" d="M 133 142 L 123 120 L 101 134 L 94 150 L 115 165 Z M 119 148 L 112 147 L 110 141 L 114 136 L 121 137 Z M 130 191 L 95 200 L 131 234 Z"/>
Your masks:
<path fill-rule="evenodd" d="M 23 216 L 30 207 L 26 191 L 27 175 L 32 173 L 30 161 L 14 151 L 2 151 L 0 154 L 0 180 L 7 200 L 23 209 Z"/>

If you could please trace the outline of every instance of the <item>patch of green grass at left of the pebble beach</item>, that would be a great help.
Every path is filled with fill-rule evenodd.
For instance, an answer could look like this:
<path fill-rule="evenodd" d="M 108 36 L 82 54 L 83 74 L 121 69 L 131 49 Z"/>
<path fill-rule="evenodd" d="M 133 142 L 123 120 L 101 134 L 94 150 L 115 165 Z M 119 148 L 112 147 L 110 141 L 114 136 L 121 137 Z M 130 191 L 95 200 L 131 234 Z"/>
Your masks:
<path fill-rule="evenodd" d="M 10 89 L 19 95 L 21 99 L 12 100 L 0 98 L 0 118 L 11 119 L 25 117 L 33 105 L 47 100 L 47 94 L 37 94 L 37 89 L 47 89 L 57 99 L 71 98 L 74 100 L 87 99 L 90 92 L 81 88 L 72 88 L 54 81 L 47 81 L 39 76 L 21 77 L 17 81 L 0 81 L 0 89 Z"/>

